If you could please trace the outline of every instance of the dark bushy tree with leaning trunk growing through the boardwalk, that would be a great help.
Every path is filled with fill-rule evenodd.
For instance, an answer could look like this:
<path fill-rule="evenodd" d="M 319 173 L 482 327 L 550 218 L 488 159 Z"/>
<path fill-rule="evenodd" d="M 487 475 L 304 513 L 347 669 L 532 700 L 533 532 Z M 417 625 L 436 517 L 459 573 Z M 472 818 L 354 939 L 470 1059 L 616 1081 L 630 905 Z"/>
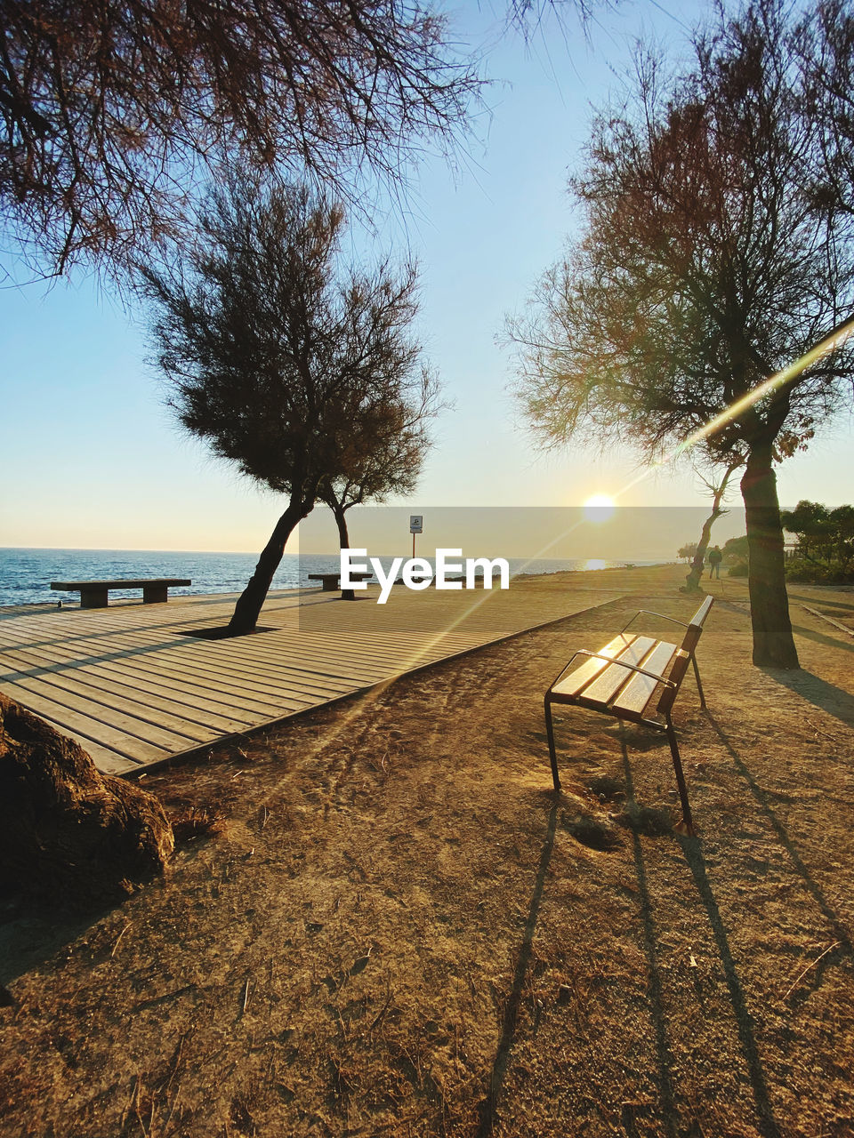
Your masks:
<path fill-rule="evenodd" d="M 315 502 L 371 464 L 375 486 L 396 478 L 393 463 L 381 472 L 395 431 L 405 440 L 420 429 L 416 270 L 345 273 L 343 225 L 343 209 L 304 185 L 244 179 L 211 196 L 171 266 L 143 270 L 155 360 L 179 421 L 288 497 L 232 635 L 255 627 L 288 537 Z"/>

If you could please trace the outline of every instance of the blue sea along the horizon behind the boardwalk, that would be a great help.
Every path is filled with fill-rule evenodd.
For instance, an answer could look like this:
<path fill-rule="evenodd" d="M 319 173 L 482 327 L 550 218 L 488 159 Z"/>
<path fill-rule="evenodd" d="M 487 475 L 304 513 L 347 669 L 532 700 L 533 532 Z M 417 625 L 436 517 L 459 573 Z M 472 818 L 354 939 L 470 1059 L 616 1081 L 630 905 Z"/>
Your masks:
<path fill-rule="evenodd" d="M 392 558 L 380 558 L 388 568 Z M 429 559 L 428 559 L 429 560 Z M 170 589 L 170 596 L 190 593 L 239 593 L 248 582 L 257 553 L 200 553 L 173 550 L 47 550 L 0 549 L 0 607 L 19 604 L 75 604 L 79 593 L 51 589 L 51 580 L 117 580 L 143 577 L 184 577 L 192 584 Z M 548 574 L 566 570 L 619 568 L 629 562 L 605 560 L 528 561 L 509 558 L 510 574 Z M 638 561 L 637 564 L 656 564 Z M 309 575 L 337 572 L 337 553 L 286 553 L 273 578 L 274 589 L 318 587 Z M 116 589 L 110 600 L 139 597 L 139 589 Z"/>

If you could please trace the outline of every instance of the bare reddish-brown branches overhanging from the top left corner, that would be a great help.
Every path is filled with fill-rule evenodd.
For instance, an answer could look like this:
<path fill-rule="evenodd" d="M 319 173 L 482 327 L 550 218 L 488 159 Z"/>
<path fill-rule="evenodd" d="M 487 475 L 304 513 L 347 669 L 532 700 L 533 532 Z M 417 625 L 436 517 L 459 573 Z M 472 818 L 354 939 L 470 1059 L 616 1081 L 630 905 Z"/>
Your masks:
<path fill-rule="evenodd" d="M 451 146 L 476 66 L 410 0 L 6 0 L 0 211 L 31 263 L 126 264 L 222 164 L 355 197 Z"/>

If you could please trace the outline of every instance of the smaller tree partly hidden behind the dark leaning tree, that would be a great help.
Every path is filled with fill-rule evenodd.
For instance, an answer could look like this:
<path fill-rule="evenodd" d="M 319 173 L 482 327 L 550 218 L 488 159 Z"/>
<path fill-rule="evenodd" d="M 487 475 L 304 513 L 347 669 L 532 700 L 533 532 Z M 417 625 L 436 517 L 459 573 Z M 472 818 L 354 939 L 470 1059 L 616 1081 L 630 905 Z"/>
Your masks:
<path fill-rule="evenodd" d="M 427 423 L 441 410 L 438 385 L 425 368 L 420 387 L 388 391 L 371 415 L 347 424 L 338 440 L 342 469 L 323 480 L 319 497 L 332 511 L 340 547 L 348 549 L 347 511 L 364 502 L 383 502 L 416 488 L 430 447 Z M 353 589 L 342 591 L 355 600 Z"/>

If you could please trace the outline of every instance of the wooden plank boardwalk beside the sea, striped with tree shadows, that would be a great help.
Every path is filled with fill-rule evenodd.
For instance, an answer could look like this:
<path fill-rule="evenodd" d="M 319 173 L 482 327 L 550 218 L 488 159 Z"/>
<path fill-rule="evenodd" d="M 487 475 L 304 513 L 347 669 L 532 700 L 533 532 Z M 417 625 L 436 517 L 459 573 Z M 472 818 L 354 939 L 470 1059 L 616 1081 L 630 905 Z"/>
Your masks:
<path fill-rule="evenodd" d="M 227 641 L 235 596 L 51 609 L 0 620 L 0 691 L 126 774 L 364 691 L 407 671 L 606 603 L 619 591 L 376 591 L 348 603 L 272 594 L 260 628 Z M 545 678 L 544 682 L 548 682 Z"/>

